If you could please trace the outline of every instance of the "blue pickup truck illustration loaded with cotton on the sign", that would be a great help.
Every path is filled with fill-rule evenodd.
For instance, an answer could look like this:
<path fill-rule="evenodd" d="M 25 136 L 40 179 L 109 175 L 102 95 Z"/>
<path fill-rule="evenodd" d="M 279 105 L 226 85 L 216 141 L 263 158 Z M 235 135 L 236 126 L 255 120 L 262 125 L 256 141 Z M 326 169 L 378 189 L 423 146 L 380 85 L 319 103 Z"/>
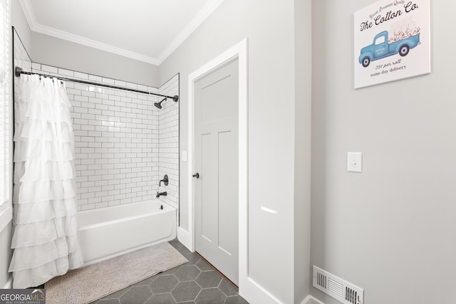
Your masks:
<path fill-rule="evenodd" d="M 419 28 L 418 28 L 419 31 Z M 390 38 L 389 41 L 392 41 Z M 420 43 L 420 33 L 415 33 L 413 36 L 400 38 L 400 40 L 388 42 L 388 31 L 378 33 L 373 38 L 373 43 L 370 46 L 361 48 L 361 55 L 359 56 L 359 63 L 363 67 L 367 67 L 371 61 L 376 61 L 380 58 L 385 58 L 395 54 L 400 56 L 407 56 L 410 48 L 415 48 Z"/>

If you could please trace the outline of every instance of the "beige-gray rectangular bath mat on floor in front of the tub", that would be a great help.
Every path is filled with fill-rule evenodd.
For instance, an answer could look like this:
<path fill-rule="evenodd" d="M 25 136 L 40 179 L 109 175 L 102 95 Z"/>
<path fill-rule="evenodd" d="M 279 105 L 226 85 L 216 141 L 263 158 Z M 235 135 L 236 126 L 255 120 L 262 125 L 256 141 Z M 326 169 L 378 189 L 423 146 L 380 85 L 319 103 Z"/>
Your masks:
<path fill-rule="evenodd" d="M 169 243 L 159 243 L 53 278 L 44 286 L 46 303 L 90 303 L 186 262 Z"/>

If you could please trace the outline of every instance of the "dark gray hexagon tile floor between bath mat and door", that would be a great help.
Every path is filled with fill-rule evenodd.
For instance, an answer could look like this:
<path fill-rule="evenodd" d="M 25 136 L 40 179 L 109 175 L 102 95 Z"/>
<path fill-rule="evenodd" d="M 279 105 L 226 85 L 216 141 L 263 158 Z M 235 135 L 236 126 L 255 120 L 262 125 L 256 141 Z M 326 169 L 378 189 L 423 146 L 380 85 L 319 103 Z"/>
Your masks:
<path fill-rule="evenodd" d="M 248 304 L 237 288 L 197 253 L 177 240 L 169 242 L 188 263 L 146 278 L 91 304 Z"/>

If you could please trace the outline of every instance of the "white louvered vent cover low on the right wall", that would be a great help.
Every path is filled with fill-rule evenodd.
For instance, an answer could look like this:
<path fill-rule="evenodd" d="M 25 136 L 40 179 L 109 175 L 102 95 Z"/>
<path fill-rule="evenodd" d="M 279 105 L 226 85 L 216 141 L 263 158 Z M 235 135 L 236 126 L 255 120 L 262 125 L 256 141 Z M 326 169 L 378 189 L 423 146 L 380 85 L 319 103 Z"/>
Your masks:
<path fill-rule="evenodd" d="M 364 304 L 364 290 L 314 266 L 314 287 L 343 304 Z"/>

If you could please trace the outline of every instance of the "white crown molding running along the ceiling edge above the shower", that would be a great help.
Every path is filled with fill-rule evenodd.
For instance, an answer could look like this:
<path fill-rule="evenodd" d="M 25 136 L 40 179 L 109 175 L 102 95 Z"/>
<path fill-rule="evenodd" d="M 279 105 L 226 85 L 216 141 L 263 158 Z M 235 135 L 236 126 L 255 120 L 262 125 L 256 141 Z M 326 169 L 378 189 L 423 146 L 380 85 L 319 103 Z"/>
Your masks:
<path fill-rule="evenodd" d="M 82 36 L 74 35 L 72 33 L 68 33 L 66 31 L 60 31 L 56 28 L 51 28 L 49 26 L 43 26 L 36 22 L 35 14 L 33 13 L 33 9 L 31 5 L 26 0 L 19 0 L 22 10 L 24 11 L 24 15 L 26 16 L 26 20 L 28 26 L 30 27 L 31 31 L 35 31 L 37 33 L 43 33 L 48 36 L 53 36 L 56 38 L 60 38 L 66 41 L 71 41 L 73 43 L 82 44 L 83 46 L 89 46 L 91 48 L 97 48 L 101 51 L 106 51 L 109 53 L 115 53 L 120 56 L 124 56 L 127 58 L 132 58 L 138 61 L 142 61 L 145 63 L 150 63 L 153 65 L 160 65 L 165 59 L 172 54 L 184 41 L 185 39 L 190 36 L 193 31 L 205 20 L 207 17 L 212 14 L 212 12 L 217 9 L 217 7 L 222 4 L 224 0 L 211 0 L 207 2 L 207 4 L 203 7 L 201 11 L 195 16 L 195 18 L 190 21 L 187 26 L 176 36 L 176 38 L 170 43 L 170 45 L 165 48 L 158 58 L 152 58 L 149 56 L 142 55 L 140 53 L 135 53 L 132 51 L 125 50 L 124 48 L 118 48 L 115 46 L 110 46 L 106 43 L 101 43 L 98 41 L 94 41 Z"/>

